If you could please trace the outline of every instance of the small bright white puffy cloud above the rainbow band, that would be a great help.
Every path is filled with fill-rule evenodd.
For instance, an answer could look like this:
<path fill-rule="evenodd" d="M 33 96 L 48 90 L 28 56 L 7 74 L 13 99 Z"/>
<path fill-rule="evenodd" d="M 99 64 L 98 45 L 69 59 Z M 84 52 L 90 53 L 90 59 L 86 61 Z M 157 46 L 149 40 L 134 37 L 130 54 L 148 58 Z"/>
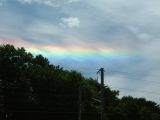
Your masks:
<path fill-rule="evenodd" d="M 60 25 L 68 26 L 69 28 L 76 28 L 80 26 L 80 20 L 77 17 L 68 17 L 68 18 L 61 18 Z"/>

